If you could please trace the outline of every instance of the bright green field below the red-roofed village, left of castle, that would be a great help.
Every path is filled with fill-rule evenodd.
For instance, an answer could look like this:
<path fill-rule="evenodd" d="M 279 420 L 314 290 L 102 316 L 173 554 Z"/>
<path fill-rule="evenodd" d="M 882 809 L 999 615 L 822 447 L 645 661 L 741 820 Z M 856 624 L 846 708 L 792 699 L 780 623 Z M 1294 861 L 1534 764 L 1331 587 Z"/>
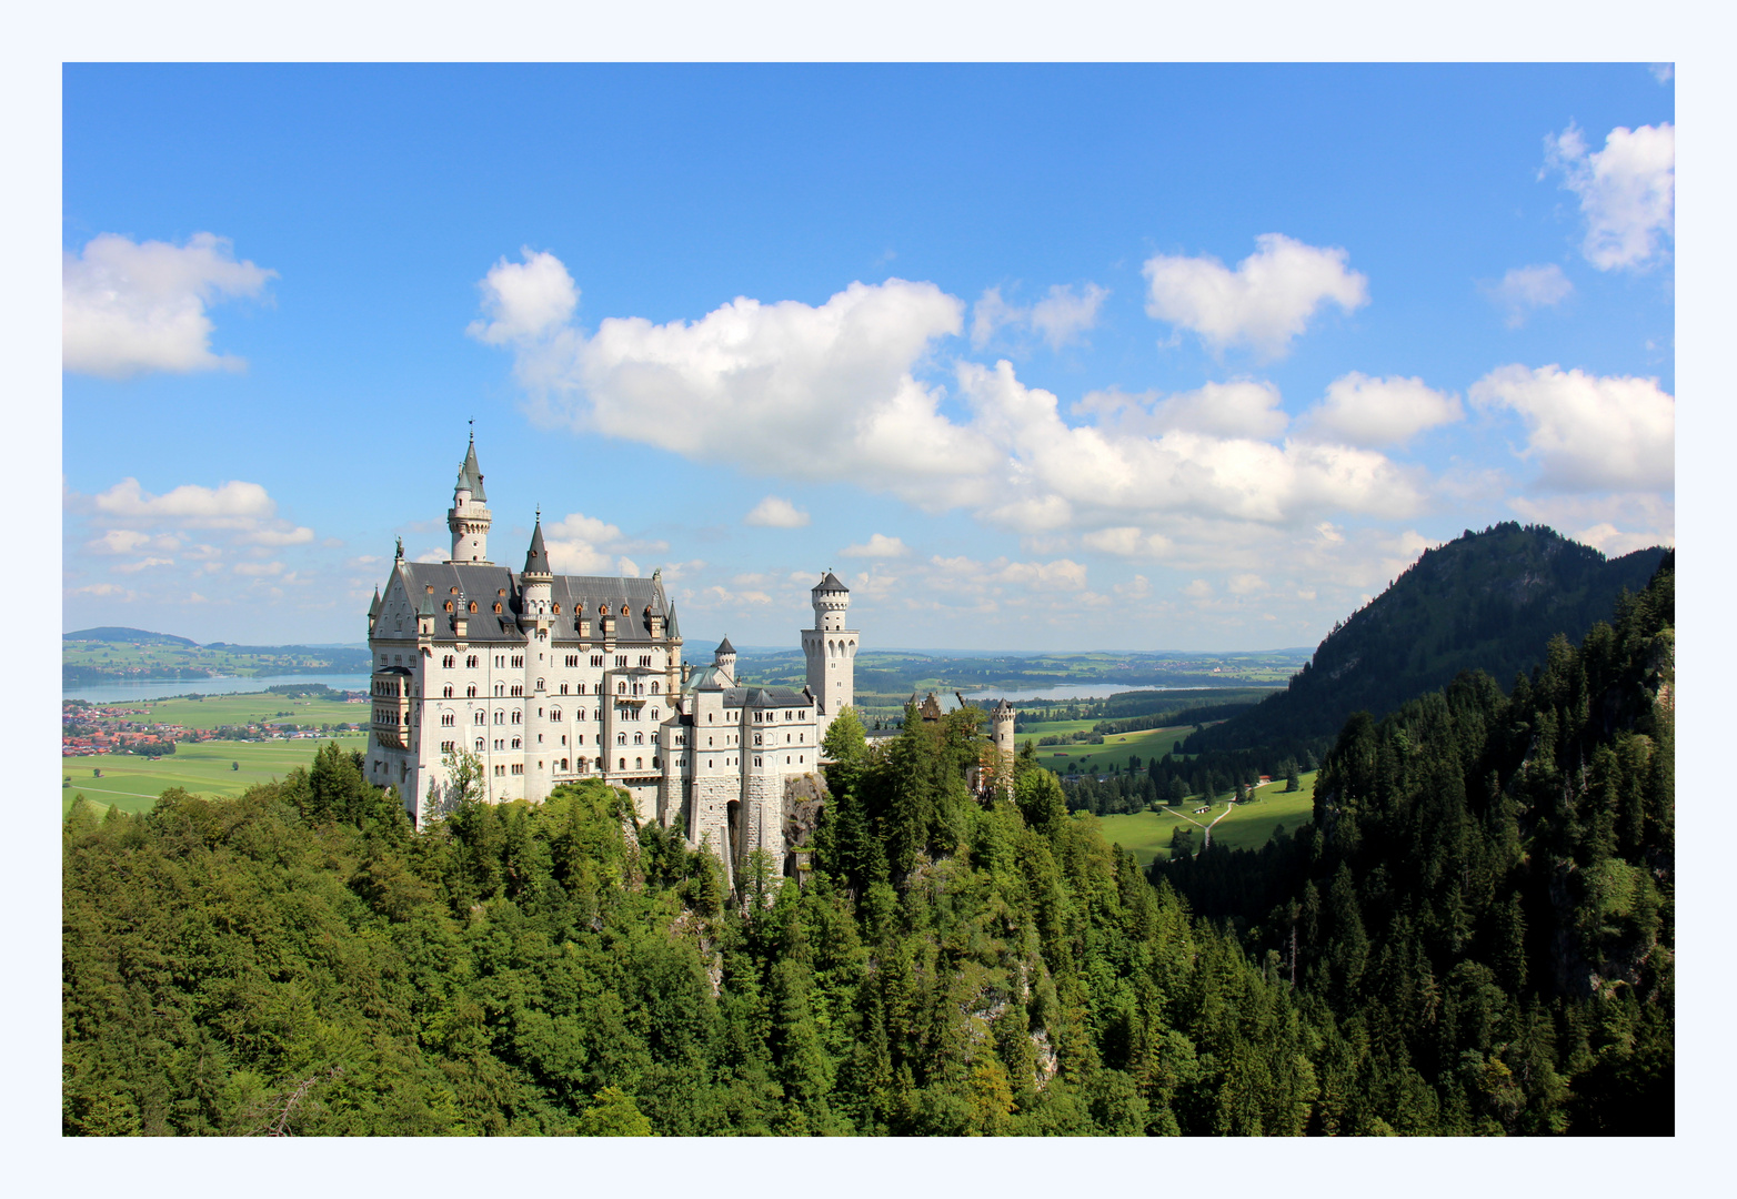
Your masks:
<path fill-rule="evenodd" d="M 80 795 L 104 807 L 113 803 L 123 812 L 148 812 L 156 796 L 172 786 L 195 795 L 240 795 L 255 783 L 281 779 L 295 767 L 313 763 L 314 753 L 327 741 L 361 750 L 368 736 L 347 732 L 309 741 L 181 743 L 175 753 L 163 758 L 125 753 L 61 758 L 61 777 L 71 777 L 71 784 L 61 788 L 61 817 L 71 812 L 73 800 Z M 231 762 L 240 763 L 240 769 L 231 769 Z M 96 777 L 92 770 L 101 770 L 102 777 Z"/>

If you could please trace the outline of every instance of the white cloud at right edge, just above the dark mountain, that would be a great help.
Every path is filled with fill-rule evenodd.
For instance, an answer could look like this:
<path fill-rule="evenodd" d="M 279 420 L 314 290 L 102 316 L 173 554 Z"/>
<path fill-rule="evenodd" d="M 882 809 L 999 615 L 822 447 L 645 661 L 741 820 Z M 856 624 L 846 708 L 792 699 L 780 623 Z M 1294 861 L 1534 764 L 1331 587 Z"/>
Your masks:
<path fill-rule="evenodd" d="M 1655 378 L 1588 375 L 1560 366 L 1501 366 L 1471 385 L 1478 408 L 1509 408 L 1527 423 L 1525 456 L 1551 491 L 1671 489 L 1676 397 Z"/>

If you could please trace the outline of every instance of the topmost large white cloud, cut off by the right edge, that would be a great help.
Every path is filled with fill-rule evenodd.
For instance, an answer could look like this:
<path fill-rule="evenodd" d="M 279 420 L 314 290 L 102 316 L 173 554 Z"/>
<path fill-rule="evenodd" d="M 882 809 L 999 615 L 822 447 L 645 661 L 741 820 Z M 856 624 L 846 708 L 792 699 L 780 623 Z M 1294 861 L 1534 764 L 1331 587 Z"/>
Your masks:
<path fill-rule="evenodd" d="M 1669 121 L 1617 127 L 1588 151 L 1579 127 L 1544 139 L 1544 174 L 1581 198 L 1581 253 L 1600 271 L 1645 267 L 1676 236 L 1676 128 Z"/>

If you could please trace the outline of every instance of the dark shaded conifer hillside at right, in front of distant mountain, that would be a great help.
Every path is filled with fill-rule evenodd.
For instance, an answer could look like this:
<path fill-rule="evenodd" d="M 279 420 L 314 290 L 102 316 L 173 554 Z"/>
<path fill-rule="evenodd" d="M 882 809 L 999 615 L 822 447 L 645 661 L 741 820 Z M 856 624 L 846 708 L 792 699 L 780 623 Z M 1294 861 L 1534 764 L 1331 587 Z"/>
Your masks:
<path fill-rule="evenodd" d="M 1298 835 L 1153 864 L 1332 1012 L 1350 1126 L 1671 1133 L 1673 586 L 1668 554 L 1509 696 L 1358 713 Z"/>

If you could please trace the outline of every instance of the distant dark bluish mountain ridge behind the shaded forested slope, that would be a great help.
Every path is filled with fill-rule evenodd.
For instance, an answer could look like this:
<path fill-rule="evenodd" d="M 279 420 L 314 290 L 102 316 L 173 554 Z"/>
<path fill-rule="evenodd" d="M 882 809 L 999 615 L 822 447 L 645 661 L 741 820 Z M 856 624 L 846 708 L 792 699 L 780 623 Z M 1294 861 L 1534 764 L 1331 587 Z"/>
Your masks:
<path fill-rule="evenodd" d="M 1185 751 L 1235 750 L 1332 737 L 1353 711 L 1381 717 L 1485 670 L 1506 687 L 1544 659 L 1556 633 L 1579 642 L 1610 619 L 1617 597 L 1641 592 L 1662 547 L 1607 559 L 1546 526 L 1513 521 L 1424 550 L 1388 590 L 1336 625 L 1291 685 Z"/>

